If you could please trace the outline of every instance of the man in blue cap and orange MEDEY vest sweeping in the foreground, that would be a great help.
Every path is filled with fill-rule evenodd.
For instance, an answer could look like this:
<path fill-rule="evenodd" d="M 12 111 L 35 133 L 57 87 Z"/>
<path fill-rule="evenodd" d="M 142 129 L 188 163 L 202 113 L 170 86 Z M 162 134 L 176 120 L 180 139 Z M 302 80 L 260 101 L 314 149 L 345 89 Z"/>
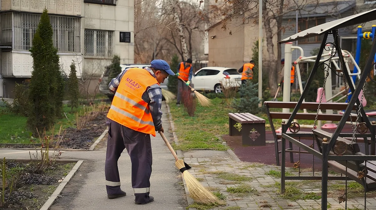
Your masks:
<path fill-rule="evenodd" d="M 166 61 L 153 60 L 150 67 L 128 68 L 109 83 L 115 93 L 107 114 L 108 140 L 105 163 L 107 197 L 126 193 L 120 189 L 117 161 L 127 149 L 132 162 L 132 188 L 135 204 L 153 202 L 149 196 L 152 173 L 150 134 L 164 132 L 162 127 L 162 89 L 159 84 L 175 75 Z"/>

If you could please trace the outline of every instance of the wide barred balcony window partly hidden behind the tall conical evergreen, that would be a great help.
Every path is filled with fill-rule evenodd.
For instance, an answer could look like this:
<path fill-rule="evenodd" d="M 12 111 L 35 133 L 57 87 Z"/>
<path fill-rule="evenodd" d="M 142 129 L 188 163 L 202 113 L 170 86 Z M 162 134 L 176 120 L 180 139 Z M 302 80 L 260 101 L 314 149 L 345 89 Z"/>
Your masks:
<path fill-rule="evenodd" d="M 49 16 L 53 29 L 53 46 L 59 52 L 80 52 L 80 18 Z M 29 50 L 33 46 L 40 18 L 39 14 L 14 14 L 14 49 Z"/>

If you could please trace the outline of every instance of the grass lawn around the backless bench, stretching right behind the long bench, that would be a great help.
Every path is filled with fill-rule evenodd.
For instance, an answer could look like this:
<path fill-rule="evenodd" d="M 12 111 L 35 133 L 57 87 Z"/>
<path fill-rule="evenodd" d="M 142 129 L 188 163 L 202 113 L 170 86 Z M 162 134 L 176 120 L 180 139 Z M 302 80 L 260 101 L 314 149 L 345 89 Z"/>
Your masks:
<path fill-rule="evenodd" d="M 271 100 L 271 99 L 270 99 Z M 282 101 L 282 98 L 278 98 Z M 222 141 L 217 137 L 229 133 L 228 113 L 234 112 L 233 108 L 227 107 L 224 99 L 211 99 L 211 107 L 201 107 L 197 105 L 194 117 L 188 116 L 184 106 L 177 107 L 174 102 L 169 103 L 171 114 L 174 119 L 175 130 L 179 138 L 179 145 L 175 149 L 187 151 L 190 149 L 216 149 L 226 150 L 227 147 L 222 145 Z M 282 109 L 271 109 L 270 111 L 282 112 Z M 292 112 L 293 109 L 290 109 Z M 303 112 L 303 110 L 299 110 Z M 309 113 L 316 113 L 315 110 L 308 110 Z M 266 129 L 270 130 L 270 123 L 265 111 L 255 114 L 266 120 Z M 314 120 L 298 120 L 300 125 L 313 125 Z M 276 129 L 282 123 L 282 119 L 273 119 Z M 322 122 L 323 124 L 325 121 Z M 336 123 L 336 122 L 334 122 Z"/>

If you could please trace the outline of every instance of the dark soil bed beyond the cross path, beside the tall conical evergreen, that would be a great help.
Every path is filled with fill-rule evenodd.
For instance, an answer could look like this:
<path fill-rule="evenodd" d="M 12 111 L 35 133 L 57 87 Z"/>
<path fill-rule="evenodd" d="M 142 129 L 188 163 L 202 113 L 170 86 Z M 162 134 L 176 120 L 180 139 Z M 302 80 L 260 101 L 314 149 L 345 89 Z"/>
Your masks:
<path fill-rule="evenodd" d="M 106 129 L 108 111 L 101 112 L 94 120 L 87 122 L 85 128 L 77 131 L 76 128 L 67 128 L 64 139 L 56 149 L 89 149 L 90 146 Z M 58 135 L 55 135 L 58 137 Z M 37 140 L 38 142 L 38 140 Z M 56 142 L 50 143 L 50 148 L 55 148 Z M 40 148 L 41 143 L 35 144 L 0 144 L 1 148 Z"/>

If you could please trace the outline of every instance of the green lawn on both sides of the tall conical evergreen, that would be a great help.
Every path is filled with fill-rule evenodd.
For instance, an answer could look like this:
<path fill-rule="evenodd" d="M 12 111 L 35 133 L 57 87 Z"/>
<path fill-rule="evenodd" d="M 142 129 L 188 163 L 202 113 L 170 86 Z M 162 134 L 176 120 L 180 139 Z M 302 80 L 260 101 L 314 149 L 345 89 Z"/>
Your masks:
<path fill-rule="evenodd" d="M 59 134 L 60 126 L 62 126 L 62 130 L 68 127 L 75 128 L 76 117 L 74 116 L 74 113 L 80 113 L 83 110 L 83 107 L 83 105 L 80 105 L 78 108 L 73 108 L 73 111 L 71 111 L 70 107 L 64 105 L 63 110 L 67 117 L 65 117 L 65 115 L 63 114 L 62 118 L 59 119 L 58 122 L 56 122 L 54 135 Z M 32 140 L 32 132 L 26 128 L 26 121 L 27 117 L 18 116 L 14 113 L 5 112 L 5 107 L 0 107 L 0 143 L 31 143 L 30 140 Z M 42 135 L 42 132 L 43 131 L 39 131 L 40 135 Z M 35 142 L 39 143 L 39 139 L 36 139 Z"/>

